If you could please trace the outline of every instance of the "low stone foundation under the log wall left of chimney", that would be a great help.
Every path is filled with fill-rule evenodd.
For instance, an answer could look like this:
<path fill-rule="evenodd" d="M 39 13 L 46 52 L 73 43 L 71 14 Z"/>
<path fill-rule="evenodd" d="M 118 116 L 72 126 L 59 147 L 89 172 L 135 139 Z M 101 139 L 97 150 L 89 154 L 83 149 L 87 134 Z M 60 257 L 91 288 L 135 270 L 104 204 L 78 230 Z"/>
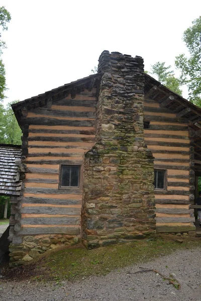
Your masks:
<path fill-rule="evenodd" d="M 9 246 L 10 266 L 25 264 L 46 251 L 79 242 L 80 237 L 66 234 L 24 236 L 22 243 L 12 243 Z"/>

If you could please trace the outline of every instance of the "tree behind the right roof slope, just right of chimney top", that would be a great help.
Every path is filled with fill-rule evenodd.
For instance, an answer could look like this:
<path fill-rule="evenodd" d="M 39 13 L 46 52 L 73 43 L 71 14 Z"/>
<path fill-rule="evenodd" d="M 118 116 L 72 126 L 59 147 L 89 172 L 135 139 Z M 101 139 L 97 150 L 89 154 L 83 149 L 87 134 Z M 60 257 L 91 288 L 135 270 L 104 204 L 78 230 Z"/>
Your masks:
<path fill-rule="evenodd" d="M 182 94 L 180 80 L 174 76 L 174 71 L 171 70 L 171 66 L 165 67 L 165 62 L 157 62 L 156 64 L 151 65 L 151 71 L 151 74 L 156 75 L 158 81 L 167 88 L 179 95 Z"/>

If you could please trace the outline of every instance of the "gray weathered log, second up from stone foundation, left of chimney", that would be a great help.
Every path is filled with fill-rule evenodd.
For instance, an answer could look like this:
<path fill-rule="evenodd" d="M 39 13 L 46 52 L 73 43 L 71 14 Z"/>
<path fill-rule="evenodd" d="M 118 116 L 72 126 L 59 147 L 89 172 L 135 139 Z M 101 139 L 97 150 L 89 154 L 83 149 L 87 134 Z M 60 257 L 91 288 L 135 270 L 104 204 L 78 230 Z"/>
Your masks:
<path fill-rule="evenodd" d="M 22 225 L 79 225 L 80 217 L 30 217 L 22 218 Z"/>

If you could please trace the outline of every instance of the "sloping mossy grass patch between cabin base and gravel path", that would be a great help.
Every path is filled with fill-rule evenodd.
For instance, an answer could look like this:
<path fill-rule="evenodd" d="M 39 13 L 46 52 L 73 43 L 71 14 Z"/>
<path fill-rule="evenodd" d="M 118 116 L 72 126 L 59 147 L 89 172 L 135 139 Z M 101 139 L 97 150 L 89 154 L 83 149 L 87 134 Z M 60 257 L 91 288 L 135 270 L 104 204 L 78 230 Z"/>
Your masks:
<path fill-rule="evenodd" d="M 54 280 L 60 283 L 64 279 L 72 281 L 91 275 L 106 275 L 114 269 L 201 245 L 199 238 L 184 238 L 183 243 L 176 242 L 176 239 L 176 236 L 159 237 L 157 240 L 141 240 L 92 250 L 66 248 L 46 254 L 25 266 L 5 269 L 3 275 L 5 279 Z"/>

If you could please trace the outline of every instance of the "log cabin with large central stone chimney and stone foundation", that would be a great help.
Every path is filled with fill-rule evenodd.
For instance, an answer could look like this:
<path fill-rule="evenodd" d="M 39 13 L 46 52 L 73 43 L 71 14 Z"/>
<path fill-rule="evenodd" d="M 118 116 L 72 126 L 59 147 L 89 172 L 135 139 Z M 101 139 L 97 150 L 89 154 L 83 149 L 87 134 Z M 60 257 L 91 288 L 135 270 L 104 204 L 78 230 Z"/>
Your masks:
<path fill-rule="evenodd" d="M 104 51 L 97 74 L 12 108 L 23 137 L 11 265 L 61 245 L 195 233 L 201 109 L 141 57 Z"/>

